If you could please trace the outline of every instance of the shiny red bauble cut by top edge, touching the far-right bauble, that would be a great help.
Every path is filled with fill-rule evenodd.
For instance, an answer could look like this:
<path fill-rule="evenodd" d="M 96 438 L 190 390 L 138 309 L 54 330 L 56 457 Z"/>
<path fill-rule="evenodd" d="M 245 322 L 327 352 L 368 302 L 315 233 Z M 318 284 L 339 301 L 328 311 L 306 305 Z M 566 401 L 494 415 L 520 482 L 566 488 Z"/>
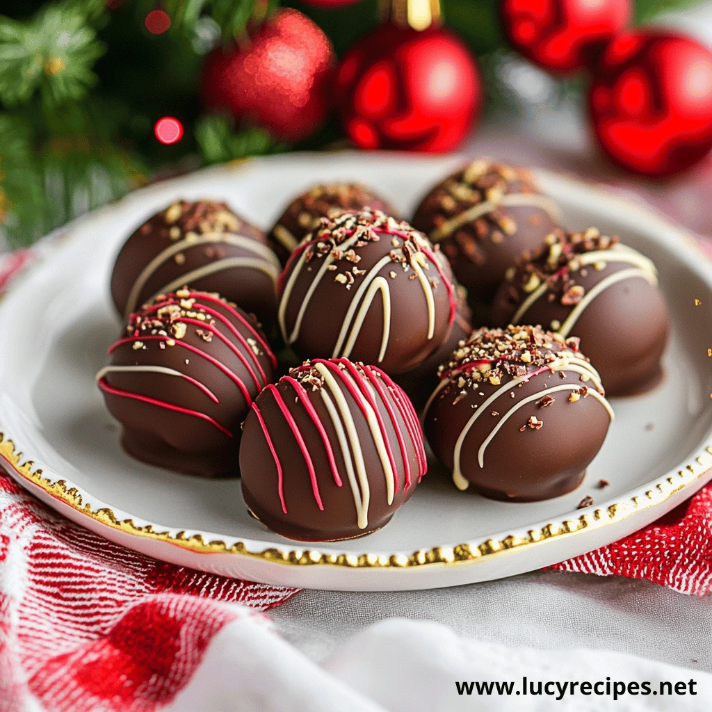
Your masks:
<path fill-rule="evenodd" d="M 632 0 L 503 0 L 502 26 L 515 49 L 552 72 L 590 66 L 624 29 Z"/>

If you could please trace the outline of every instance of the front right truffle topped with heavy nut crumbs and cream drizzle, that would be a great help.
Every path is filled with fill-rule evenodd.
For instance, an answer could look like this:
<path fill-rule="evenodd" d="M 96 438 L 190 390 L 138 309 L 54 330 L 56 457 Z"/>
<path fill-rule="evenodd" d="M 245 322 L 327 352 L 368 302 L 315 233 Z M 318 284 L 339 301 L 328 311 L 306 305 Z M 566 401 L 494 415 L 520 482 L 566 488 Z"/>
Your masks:
<path fill-rule="evenodd" d="M 455 485 L 518 502 L 579 486 L 612 419 L 578 340 L 532 326 L 475 331 L 425 409 L 428 441 Z"/>

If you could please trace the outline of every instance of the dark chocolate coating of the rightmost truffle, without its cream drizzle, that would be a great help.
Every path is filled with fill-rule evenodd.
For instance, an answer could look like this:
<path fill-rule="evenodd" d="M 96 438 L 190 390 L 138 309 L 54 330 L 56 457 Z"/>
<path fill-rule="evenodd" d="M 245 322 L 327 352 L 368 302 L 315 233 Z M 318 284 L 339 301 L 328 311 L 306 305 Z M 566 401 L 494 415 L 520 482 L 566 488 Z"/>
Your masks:
<path fill-rule="evenodd" d="M 598 232 L 590 234 L 598 235 Z M 577 254 L 609 249 L 610 245 L 617 244 L 605 236 L 583 239 L 582 234 L 560 232 L 555 236 L 553 244 L 567 246 L 574 258 Z M 619 248 L 622 246 L 615 249 Z M 496 326 L 511 322 L 528 296 L 525 286 L 533 274 L 544 280 L 568 263 L 562 256 L 549 266 L 549 250 L 547 246 L 533 261 L 521 263 L 502 283 L 493 305 Z M 557 323 L 565 323 L 577 298 L 585 296 L 610 275 L 631 267 L 634 267 L 631 263 L 604 258 L 597 266 L 569 267 L 565 280 L 553 282 L 553 288 L 536 300 L 519 321 L 555 330 Z M 572 292 L 572 287 L 583 291 Z M 567 298 L 565 294 L 574 296 Z M 643 276 L 633 276 L 604 289 L 587 305 L 567 335 L 580 338 L 581 349 L 600 373 L 609 397 L 644 393 L 660 382 L 660 360 L 669 335 L 669 316 L 661 291 Z"/>

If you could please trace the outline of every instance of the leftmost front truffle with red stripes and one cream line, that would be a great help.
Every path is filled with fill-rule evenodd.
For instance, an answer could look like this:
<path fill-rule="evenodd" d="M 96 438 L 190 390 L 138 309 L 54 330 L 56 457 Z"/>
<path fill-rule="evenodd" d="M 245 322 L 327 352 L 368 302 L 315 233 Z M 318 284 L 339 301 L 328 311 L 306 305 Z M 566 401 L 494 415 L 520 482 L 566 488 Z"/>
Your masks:
<path fill-rule="evenodd" d="M 237 474 L 240 425 L 276 367 L 254 317 L 182 289 L 130 315 L 109 353 L 97 382 L 130 455 L 187 474 Z"/>

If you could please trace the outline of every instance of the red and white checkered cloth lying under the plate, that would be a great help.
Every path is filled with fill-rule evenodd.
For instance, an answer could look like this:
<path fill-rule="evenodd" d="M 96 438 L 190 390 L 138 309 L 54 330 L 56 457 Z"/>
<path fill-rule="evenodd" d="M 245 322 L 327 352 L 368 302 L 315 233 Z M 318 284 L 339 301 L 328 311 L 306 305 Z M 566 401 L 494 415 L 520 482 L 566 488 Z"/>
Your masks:
<path fill-rule="evenodd" d="M 30 260 L 26 251 L 0 261 L 0 292 Z M 553 568 L 710 592 L 712 485 L 644 530 Z M 0 473 L 3 712 L 152 712 L 184 688 L 226 624 L 295 592 L 121 548 Z M 236 602 L 243 607 L 226 605 Z"/>

